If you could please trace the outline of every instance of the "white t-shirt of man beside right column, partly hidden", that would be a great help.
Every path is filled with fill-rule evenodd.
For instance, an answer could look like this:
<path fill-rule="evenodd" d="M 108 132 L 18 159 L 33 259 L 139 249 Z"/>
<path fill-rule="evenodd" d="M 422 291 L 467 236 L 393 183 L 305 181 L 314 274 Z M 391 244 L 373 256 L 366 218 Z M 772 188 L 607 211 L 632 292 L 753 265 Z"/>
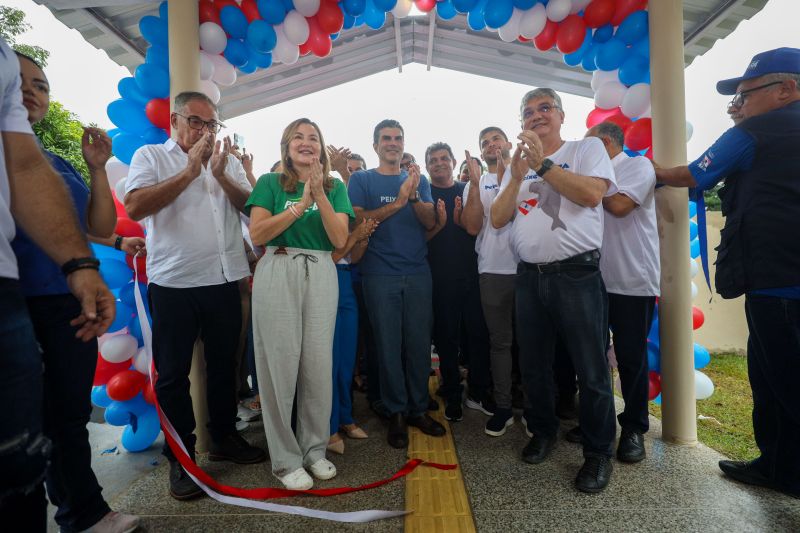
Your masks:
<path fill-rule="evenodd" d="M 636 207 L 627 216 L 605 212 L 600 272 L 608 292 L 658 296 L 661 265 L 656 227 L 656 173 L 646 157 L 624 152 L 611 160 L 617 187 Z"/>

